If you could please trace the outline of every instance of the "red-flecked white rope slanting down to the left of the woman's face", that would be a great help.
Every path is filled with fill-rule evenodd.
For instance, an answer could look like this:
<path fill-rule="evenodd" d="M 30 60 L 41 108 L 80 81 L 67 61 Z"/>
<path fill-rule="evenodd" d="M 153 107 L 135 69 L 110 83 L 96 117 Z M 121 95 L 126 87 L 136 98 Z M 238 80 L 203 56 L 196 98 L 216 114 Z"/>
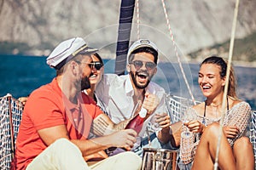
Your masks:
<path fill-rule="evenodd" d="M 184 79 L 184 81 L 185 81 L 185 83 L 186 83 L 186 86 L 187 86 L 187 88 L 189 89 L 189 94 L 190 94 L 190 96 L 191 96 L 191 99 L 192 99 L 194 105 L 196 105 L 195 98 L 194 98 L 194 96 L 193 96 L 193 94 L 192 94 L 192 91 L 191 91 L 191 89 L 190 89 L 190 87 L 189 87 L 189 82 L 188 82 L 187 77 L 186 77 L 186 75 L 185 75 L 185 73 L 184 73 L 184 71 L 183 71 L 183 65 L 182 65 L 182 63 L 181 63 L 181 61 L 180 61 L 180 57 L 179 57 L 179 55 L 178 55 L 178 53 L 177 53 L 177 45 L 176 45 L 176 43 L 175 43 L 175 41 L 174 41 L 174 37 L 173 37 L 173 34 L 172 34 L 172 29 L 171 29 L 170 21 L 169 21 L 169 18 L 168 18 L 168 14 L 167 14 L 167 12 L 166 12 L 166 3 L 165 3 L 165 0 L 161 0 L 161 2 L 162 2 L 162 5 L 163 5 L 163 8 L 164 8 L 164 13 L 165 13 L 165 16 L 166 16 L 166 23 L 167 23 L 168 30 L 169 30 L 169 32 L 170 32 L 170 36 L 171 36 L 171 39 L 172 39 L 172 44 L 173 44 L 173 46 L 174 46 L 174 51 L 175 51 L 175 54 L 176 54 L 176 56 L 177 56 L 178 65 L 179 65 L 179 67 L 180 67 L 180 69 L 181 69 L 181 71 L 182 71 L 183 79 Z"/>

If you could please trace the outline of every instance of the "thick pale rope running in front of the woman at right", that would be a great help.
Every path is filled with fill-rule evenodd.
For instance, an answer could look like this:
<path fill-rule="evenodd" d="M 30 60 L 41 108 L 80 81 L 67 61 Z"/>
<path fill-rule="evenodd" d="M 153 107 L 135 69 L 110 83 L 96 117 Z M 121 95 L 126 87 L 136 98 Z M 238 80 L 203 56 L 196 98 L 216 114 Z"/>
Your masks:
<path fill-rule="evenodd" d="M 221 131 L 222 131 L 223 126 L 224 126 L 226 96 L 228 94 L 228 86 L 229 86 L 229 79 L 230 79 L 230 66 L 231 66 L 231 60 L 232 60 L 233 48 L 234 48 L 234 41 L 235 41 L 238 6 L 239 6 L 239 0 L 236 0 L 236 7 L 235 7 L 235 11 L 234 11 L 234 18 L 233 18 L 233 23 L 232 23 L 232 31 L 231 31 L 231 37 L 230 37 L 229 60 L 228 60 L 228 65 L 227 65 L 226 81 L 225 81 L 224 95 L 223 95 L 223 101 L 224 102 L 223 102 L 222 107 L 221 107 L 221 120 L 220 120 L 219 135 L 218 135 L 218 145 L 217 145 L 215 162 L 214 162 L 214 170 L 218 169 L 218 154 L 219 154 L 219 149 L 220 149 L 220 139 L 222 137 Z"/>

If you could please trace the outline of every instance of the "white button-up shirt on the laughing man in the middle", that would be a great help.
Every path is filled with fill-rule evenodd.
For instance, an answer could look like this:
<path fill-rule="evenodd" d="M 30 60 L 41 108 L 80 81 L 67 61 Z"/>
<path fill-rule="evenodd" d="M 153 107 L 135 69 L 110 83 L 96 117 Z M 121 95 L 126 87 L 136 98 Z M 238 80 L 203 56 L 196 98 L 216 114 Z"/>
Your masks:
<path fill-rule="evenodd" d="M 139 136 L 144 138 L 148 134 L 154 133 L 155 129 L 152 126 L 154 114 L 157 112 L 166 112 L 166 93 L 164 88 L 161 88 L 154 82 L 149 82 L 145 88 L 149 94 L 156 94 L 160 99 L 160 104 L 157 106 L 154 113 L 148 117 L 143 124 L 146 126 L 139 133 Z M 119 123 L 125 119 L 130 119 L 136 111 L 137 102 L 133 101 L 134 89 L 131 84 L 129 75 L 118 76 L 116 74 L 104 74 L 102 81 L 96 86 L 96 96 L 98 104 L 108 113 L 108 116 L 114 123 Z"/>

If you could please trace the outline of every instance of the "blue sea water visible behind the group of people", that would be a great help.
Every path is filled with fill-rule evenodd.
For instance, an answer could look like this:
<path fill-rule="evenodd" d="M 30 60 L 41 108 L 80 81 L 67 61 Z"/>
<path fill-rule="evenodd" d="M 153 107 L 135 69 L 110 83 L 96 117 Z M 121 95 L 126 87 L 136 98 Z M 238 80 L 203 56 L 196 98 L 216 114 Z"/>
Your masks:
<path fill-rule="evenodd" d="M 49 68 L 46 57 L 0 55 L 0 96 L 12 94 L 16 99 L 26 96 L 55 77 L 55 70 Z M 105 59 L 105 73 L 113 73 L 114 60 Z M 199 65 L 183 65 L 183 71 L 189 88 L 196 100 L 203 101 L 198 88 L 197 76 Z M 235 67 L 237 77 L 237 94 L 256 110 L 256 68 Z M 158 73 L 153 79 L 166 89 L 167 93 L 191 98 L 189 88 L 184 82 L 180 66 L 173 63 L 160 63 Z"/>

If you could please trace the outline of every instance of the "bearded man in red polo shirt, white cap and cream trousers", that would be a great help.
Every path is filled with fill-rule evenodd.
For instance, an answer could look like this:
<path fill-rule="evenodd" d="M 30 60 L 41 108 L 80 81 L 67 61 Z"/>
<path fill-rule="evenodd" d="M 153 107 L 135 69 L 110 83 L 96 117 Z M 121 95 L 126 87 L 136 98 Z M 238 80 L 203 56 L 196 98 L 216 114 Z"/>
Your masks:
<path fill-rule="evenodd" d="M 61 42 L 47 58 L 56 77 L 26 101 L 16 142 L 17 169 L 140 169 L 141 158 L 130 151 L 86 163 L 109 147 L 131 150 L 137 137 L 132 129 L 122 130 L 127 121 L 114 124 L 81 93 L 90 88 L 94 52 L 76 37 Z M 90 132 L 97 138 L 88 139 Z"/>

